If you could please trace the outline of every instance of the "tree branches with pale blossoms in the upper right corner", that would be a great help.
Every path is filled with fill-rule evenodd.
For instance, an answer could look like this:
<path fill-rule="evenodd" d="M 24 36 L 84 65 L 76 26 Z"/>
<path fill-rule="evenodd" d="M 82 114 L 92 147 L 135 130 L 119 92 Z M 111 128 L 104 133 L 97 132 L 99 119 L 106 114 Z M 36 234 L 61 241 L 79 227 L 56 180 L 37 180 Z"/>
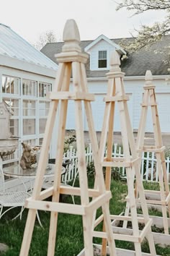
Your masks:
<path fill-rule="evenodd" d="M 126 8 L 129 11 L 133 11 L 133 15 L 147 12 L 148 10 L 164 10 L 166 17 L 163 22 L 155 22 L 153 25 L 142 25 L 138 32 L 137 37 L 133 37 L 134 40 L 127 46 L 127 42 L 122 42 L 122 46 L 127 51 L 137 51 L 141 48 L 151 46 L 164 35 L 170 33 L 170 1 L 169 0 L 121 0 L 117 2 L 117 10 Z"/>

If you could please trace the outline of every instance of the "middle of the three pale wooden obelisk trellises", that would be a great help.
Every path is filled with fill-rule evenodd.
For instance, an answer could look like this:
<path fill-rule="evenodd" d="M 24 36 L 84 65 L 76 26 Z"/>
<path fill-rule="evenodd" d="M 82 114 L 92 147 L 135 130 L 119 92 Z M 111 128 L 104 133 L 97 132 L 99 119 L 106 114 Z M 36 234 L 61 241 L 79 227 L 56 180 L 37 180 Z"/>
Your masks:
<path fill-rule="evenodd" d="M 110 61 L 110 72 L 107 73 L 108 89 L 107 96 L 104 98 L 106 103 L 104 111 L 104 121 L 102 127 L 102 135 L 100 140 L 99 158 L 102 166 L 106 167 L 105 184 L 106 189 L 110 189 L 111 171 L 112 167 L 125 167 L 128 183 L 128 200 L 130 204 L 130 215 L 127 216 L 113 216 L 111 219 L 120 221 L 130 221 L 132 223 L 133 235 L 128 234 L 114 234 L 117 240 L 130 241 L 135 244 L 135 255 L 142 255 L 141 242 L 146 237 L 150 247 L 151 255 L 156 255 L 155 245 L 153 242 L 153 235 L 151 232 L 152 220 L 148 216 L 148 208 L 143 189 L 143 183 L 140 177 L 140 158 L 135 150 L 135 140 L 133 137 L 133 130 L 130 124 L 130 116 L 128 113 L 128 95 L 125 94 L 123 77 L 124 73 L 120 69 L 120 56 L 115 51 L 112 54 Z M 120 113 L 120 125 L 122 134 L 122 146 L 125 157 L 112 158 L 113 146 L 113 130 L 114 130 L 114 115 L 115 103 L 117 103 L 118 111 Z M 104 149 L 107 144 L 107 153 L 104 157 Z M 135 202 L 135 178 L 138 185 L 138 192 L 140 195 L 141 208 L 143 210 L 143 218 L 138 218 L 137 205 Z M 145 227 L 140 232 L 138 223 L 144 223 Z M 105 226 L 103 225 L 103 231 Z M 107 239 L 102 239 L 102 255 L 106 254 Z"/>

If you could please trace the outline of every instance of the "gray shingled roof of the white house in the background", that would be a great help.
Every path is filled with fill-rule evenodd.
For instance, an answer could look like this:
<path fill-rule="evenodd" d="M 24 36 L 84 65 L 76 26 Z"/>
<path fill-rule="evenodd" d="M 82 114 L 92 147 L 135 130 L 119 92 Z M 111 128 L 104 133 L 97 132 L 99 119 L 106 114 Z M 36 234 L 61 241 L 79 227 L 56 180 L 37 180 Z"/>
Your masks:
<path fill-rule="evenodd" d="M 122 39 L 112 39 L 115 43 L 119 44 Z M 133 40 L 133 38 L 126 38 L 126 40 Z M 84 48 L 92 43 L 93 40 L 81 41 L 80 46 L 82 51 Z M 60 43 L 47 43 L 42 48 L 42 53 L 57 63 L 54 55 L 61 52 L 63 42 Z M 146 70 L 150 69 L 153 75 L 169 74 L 169 60 L 170 56 L 167 54 L 166 47 L 170 46 L 170 36 L 165 36 L 161 41 L 153 44 L 149 49 L 142 49 L 133 54 L 128 54 L 128 59 L 122 61 L 122 72 L 125 72 L 126 76 L 143 76 L 146 74 Z M 126 49 L 125 49 L 126 50 Z M 161 50 L 159 54 L 155 54 L 155 50 Z M 108 71 L 91 71 L 89 69 L 89 62 L 86 64 L 87 77 L 105 77 Z"/>

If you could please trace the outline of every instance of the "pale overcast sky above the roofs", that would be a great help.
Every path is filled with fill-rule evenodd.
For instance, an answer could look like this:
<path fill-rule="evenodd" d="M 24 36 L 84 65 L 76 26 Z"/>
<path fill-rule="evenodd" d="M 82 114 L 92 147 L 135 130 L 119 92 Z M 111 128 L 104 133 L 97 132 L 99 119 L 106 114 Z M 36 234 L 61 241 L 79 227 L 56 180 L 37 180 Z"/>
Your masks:
<path fill-rule="evenodd" d="M 114 0 L 1 0 L 0 23 L 34 44 L 50 30 L 62 41 L 68 19 L 76 21 L 81 40 L 94 40 L 102 34 L 110 39 L 131 37 L 134 28 L 164 18 L 159 11 L 132 17 L 126 9 L 116 11 L 116 6 Z"/>

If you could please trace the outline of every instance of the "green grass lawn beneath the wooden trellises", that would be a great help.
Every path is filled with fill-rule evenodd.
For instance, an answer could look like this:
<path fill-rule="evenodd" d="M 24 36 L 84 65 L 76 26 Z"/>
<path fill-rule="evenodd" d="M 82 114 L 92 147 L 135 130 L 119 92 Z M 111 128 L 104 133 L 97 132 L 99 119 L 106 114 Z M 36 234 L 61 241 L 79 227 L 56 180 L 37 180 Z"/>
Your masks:
<path fill-rule="evenodd" d="M 147 189 L 149 185 L 144 184 Z M 152 187 L 153 189 L 154 187 Z M 112 181 L 112 199 L 110 200 L 110 213 L 120 214 L 125 210 L 125 195 L 127 194 L 127 184 L 120 181 Z M 79 203 L 79 198 L 75 198 L 76 203 Z M 63 197 L 64 202 L 71 203 L 71 197 Z M 100 214 L 100 209 L 97 215 Z M 1 255 L 18 256 L 22 244 L 22 236 L 24 233 L 25 221 L 27 219 L 27 209 L 24 210 L 22 221 L 12 221 L 11 219 L 18 213 L 18 209 L 10 210 L 0 220 L 0 242 L 9 246 L 9 250 Z M 29 256 L 46 256 L 48 249 L 48 231 L 50 213 L 39 211 L 40 220 L 43 228 L 40 227 L 38 221 L 35 223 L 35 229 L 32 236 L 32 243 L 30 247 Z M 101 226 L 101 225 L 100 225 Z M 100 227 L 99 227 L 100 228 Z M 95 239 L 94 243 L 101 243 L 101 239 Z M 133 243 L 130 242 L 116 242 L 117 247 L 134 249 Z M 73 256 L 78 255 L 81 249 L 84 248 L 82 218 L 81 216 L 58 214 L 58 230 L 57 240 L 55 244 L 55 255 Z M 149 252 L 148 244 L 143 244 L 143 252 Z M 170 256 L 170 247 L 161 248 L 156 245 L 156 252 L 158 255 Z"/>

